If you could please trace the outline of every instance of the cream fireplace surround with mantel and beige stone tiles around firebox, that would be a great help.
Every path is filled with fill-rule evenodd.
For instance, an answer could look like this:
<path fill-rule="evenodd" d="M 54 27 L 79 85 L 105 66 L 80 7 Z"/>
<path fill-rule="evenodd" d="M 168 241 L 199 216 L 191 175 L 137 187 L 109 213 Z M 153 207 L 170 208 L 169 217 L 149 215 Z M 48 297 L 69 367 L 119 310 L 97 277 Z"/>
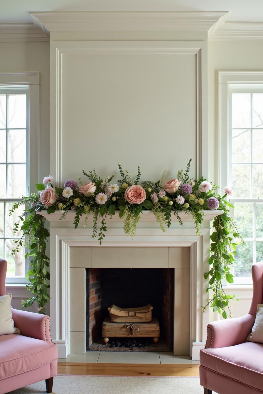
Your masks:
<path fill-rule="evenodd" d="M 86 352 L 86 268 L 173 268 L 173 351 L 174 354 L 189 354 L 193 360 L 199 359 L 209 322 L 209 312 L 206 310 L 203 313 L 201 305 L 207 299 L 207 281 L 203 279 L 203 274 L 209 268 L 210 221 L 222 211 L 204 211 L 199 236 L 196 236 L 192 217 L 184 212 L 180 213 L 183 227 L 172 217 L 172 226 L 163 234 L 152 212 L 145 211 L 133 240 L 123 233 L 122 222 L 116 215 L 112 221 L 108 220 L 102 246 L 91 238 L 91 220 L 86 228 L 82 228 L 83 218 L 80 227 L 74 229 L 74 212 L 69 212 L 63 221 L 59 220 L 60 212 L 47 215 L 47 211 L 41 211 L 39 214 L 50 222 L 51 335 L 58 345 L 60 358 L 70 353 Z M 132 248 L 132 254 L 127 253 L 127 258 L 116 258 L 112 262 L 105 255 L 109 247 Z M 143 251 L 147 255 L 153 248 L 154 258 L 153 255 L 151 258 L 140 258 L 144 256 Z M 138 258 L 134 258 L 134 253 Z M 187 271 L 189 275 L 186 275 Z M 189 289 L 189 297 L 185 288 Z M 177 303 L 178 300 L 180 302 Z M 182 304 L 183 301 L 185 304 Z"/>

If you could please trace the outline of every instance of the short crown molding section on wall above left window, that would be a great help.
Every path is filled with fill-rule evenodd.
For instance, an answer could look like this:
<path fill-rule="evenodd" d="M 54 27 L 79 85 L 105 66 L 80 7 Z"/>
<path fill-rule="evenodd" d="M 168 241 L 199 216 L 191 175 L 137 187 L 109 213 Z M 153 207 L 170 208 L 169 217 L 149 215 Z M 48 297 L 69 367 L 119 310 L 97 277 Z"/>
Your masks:
<path fill-rule="evenodd" d="M 34 20 L 32 23 L 0 23 L 0 42 L 50 41 L 47 29 Z"/>

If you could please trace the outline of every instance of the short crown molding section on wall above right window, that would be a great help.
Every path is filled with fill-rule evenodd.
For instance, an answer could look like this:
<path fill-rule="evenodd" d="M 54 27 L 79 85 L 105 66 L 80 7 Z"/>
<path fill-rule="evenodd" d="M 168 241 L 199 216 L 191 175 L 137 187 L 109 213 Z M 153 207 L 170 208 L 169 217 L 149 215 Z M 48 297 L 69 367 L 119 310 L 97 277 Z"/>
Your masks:
<path fill-rule="evenodd" d="M 224 22 L 209 35 L 209 41 L 255 41 L 262 39 L 262 22 Z"/>

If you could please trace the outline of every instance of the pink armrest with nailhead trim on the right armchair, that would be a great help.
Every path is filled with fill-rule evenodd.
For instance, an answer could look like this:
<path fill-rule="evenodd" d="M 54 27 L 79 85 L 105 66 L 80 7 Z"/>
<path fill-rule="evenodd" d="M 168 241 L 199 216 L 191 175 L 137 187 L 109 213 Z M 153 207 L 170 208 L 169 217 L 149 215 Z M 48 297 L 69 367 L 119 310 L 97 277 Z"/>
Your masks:
<path fill-rule="evenodd" d="M 247 314 L 241 318 L 218 320 L 207 325 L 205 348 L 224 348 L 246 342 L 255 322 L 255 316 Z"/>

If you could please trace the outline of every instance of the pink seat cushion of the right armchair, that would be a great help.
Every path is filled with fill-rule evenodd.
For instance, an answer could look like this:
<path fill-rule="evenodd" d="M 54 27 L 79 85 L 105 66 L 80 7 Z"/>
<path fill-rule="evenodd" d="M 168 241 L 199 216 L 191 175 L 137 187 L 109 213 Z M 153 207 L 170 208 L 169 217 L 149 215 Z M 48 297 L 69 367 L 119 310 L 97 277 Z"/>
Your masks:
<path fill-rule="evenodd" d="M 262 390 L 263 344 L 244 342 L 226 348 L 211 348 L 200 351 L 200 364 L 231 379 Z"/>

